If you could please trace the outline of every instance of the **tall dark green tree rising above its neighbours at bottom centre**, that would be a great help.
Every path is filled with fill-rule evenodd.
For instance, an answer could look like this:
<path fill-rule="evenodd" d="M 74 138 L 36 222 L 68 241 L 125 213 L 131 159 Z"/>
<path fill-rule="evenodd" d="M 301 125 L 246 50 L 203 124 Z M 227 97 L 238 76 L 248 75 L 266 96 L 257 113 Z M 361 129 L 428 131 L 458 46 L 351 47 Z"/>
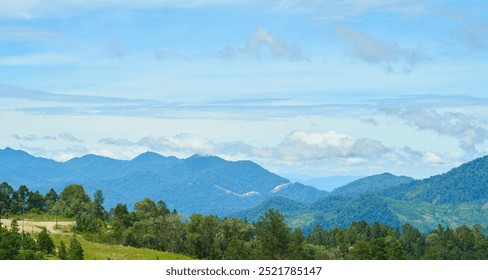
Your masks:
<path fill-rule="evenodd" d="M 256 223 L 256 257 L 259 259 L 286 259 L 290 243 L 290 228 L 281 212 L 275 209 L 266 211 Z"/>

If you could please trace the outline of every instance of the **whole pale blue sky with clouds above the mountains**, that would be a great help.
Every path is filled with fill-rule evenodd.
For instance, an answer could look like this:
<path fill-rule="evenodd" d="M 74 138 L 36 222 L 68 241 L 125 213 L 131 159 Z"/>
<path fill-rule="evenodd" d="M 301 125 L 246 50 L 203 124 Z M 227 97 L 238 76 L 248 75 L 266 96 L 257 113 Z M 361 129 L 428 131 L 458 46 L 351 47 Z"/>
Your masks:
<path fill-rule="evenodd" d="M 488 154 L 484 1 L 0 0 L 0 149 L 424 178 Z"/>

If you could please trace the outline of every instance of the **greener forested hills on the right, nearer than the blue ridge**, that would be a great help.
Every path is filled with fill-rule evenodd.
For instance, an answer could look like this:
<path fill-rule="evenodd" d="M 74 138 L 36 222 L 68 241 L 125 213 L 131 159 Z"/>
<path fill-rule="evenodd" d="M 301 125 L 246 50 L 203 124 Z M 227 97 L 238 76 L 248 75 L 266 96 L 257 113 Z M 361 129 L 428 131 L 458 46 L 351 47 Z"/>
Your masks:
<path fill-rule="evenodd" d="M 385 173 L 359 179 L 313 203 L 281 203 L 277 209 L 305 232 L 316 224 L 345 227 L 359 220 L 392 227 L 410 223 L 424 233 L 438 224 L 452 228 L 480 224 L 488 229 L 488 157 L 424 180 Z M 265 201 L 236 216 L 255 220 L 275 204 L 275 199 Z"/>

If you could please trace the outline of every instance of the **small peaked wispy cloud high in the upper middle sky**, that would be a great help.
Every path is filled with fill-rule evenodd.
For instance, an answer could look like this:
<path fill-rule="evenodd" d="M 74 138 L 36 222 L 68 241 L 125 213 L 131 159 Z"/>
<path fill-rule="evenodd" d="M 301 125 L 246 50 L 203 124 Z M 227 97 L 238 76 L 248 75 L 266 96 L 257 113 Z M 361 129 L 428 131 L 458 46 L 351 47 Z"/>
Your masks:
<path fill-rule="evenodd" d="M 243 56 L 262 58 L 266 56 L 267 52 L 275 59 L 308 60 L 299 47 L 275 38 L 262 26 L 258 27 L 245 46 L 227 46 L 218 52 L 217 57 L 223 60 L 234 60 Z"/>

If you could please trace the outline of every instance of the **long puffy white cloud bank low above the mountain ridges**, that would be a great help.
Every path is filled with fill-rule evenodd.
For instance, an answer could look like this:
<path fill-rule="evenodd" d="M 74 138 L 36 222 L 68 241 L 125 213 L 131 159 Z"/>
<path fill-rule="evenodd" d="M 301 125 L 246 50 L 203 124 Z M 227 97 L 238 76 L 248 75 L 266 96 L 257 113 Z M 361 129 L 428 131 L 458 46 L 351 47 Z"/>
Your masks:
<path fill-rule="evenodd" d="M 294 131 L 275 147 L 254 147 L 242 142 L 215 142 L 192 135 L 147 136 L 137 142 L 125 139 L 103 138 L 100 144 L 115 146 L 143 146 L 154 151 L 178 154 L 212 154 L 224 157 L 241 155 L 244 158 L 261 158 L 279 162 L 310 162 L 340 158 L 348 164 L 357 165 L 367 159 L 390 151 L 379 141 L 354 139 L 335 131 Z"/>

